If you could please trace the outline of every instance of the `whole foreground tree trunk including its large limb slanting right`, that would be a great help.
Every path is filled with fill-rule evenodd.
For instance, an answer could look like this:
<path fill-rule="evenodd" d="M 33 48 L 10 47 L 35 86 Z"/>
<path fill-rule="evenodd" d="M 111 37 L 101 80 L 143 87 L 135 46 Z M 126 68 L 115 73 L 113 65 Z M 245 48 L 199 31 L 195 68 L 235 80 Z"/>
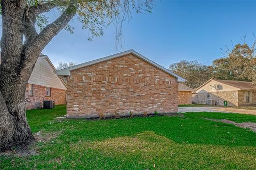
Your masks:
<path fill-rule="evenodd" d="M 2 38 L 0 63 L 0 152 L 26 148 L 34 143 L 26 119 L 25 92 L 38 55 L 76 13 L 76 0 L 41 33 L 35 31 L 38 13 L 54 7 L 49 3 L 26 11 L 26 0 L 2 0 Z M 46 7 L 48 5 L 48 7 Z M 33 11 L 35 10 L 35 11 Z M 23 36 L 26 41 L 23 43 Z"/>

